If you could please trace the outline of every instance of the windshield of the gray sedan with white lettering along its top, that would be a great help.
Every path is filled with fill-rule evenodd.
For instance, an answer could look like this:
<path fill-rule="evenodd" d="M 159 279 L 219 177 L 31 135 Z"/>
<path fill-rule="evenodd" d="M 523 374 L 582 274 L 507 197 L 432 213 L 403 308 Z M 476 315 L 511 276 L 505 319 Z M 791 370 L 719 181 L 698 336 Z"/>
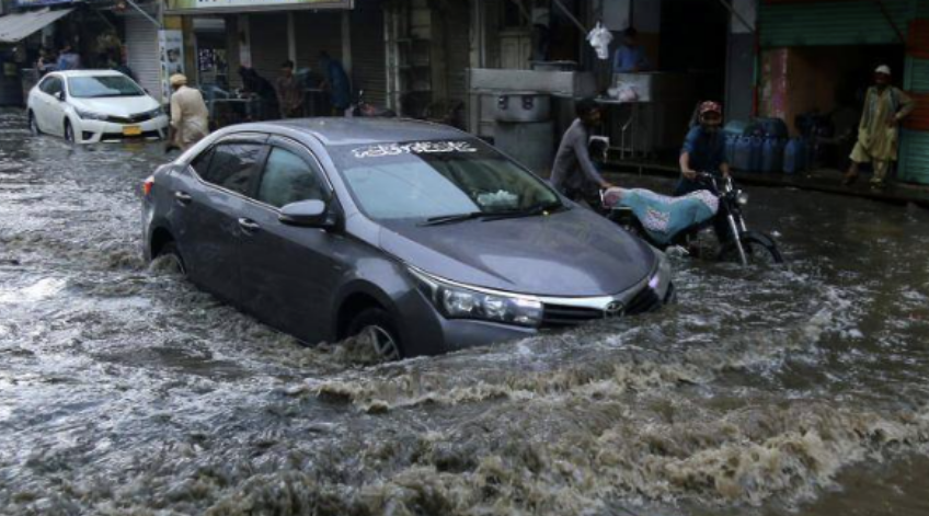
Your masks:
<path fill-rule="evenodd" d="M 548 184 L 474 140 L 341 146 L 332 157 L 362 210 L 376 220 L 561 206 Z"/>

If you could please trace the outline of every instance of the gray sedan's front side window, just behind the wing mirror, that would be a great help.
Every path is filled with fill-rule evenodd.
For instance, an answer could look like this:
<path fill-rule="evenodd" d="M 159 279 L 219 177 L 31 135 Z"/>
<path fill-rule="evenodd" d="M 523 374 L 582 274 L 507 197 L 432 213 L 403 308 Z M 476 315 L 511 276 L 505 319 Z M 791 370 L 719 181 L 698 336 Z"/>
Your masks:
<path fill-rule="evenodd" d="M 277 208 L 300 200 L 329 200 L 322 172 L 316 163 L 279 147 L 272 149 L 262 175 L 257 200 Z"/>

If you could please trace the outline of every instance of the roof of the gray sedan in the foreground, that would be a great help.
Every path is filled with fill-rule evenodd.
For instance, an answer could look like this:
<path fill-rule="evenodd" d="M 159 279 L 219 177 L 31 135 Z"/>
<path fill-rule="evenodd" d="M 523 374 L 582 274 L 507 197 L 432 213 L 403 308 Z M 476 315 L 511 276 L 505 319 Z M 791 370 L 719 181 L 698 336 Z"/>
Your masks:
<path fill-rule="evenodd" d="M 234 129 L 236 133 L 296 131 L 310 135 L 326 147 L 473 138 L 454 127 L 405 118 L 300 118 L 242 124 Z"/>

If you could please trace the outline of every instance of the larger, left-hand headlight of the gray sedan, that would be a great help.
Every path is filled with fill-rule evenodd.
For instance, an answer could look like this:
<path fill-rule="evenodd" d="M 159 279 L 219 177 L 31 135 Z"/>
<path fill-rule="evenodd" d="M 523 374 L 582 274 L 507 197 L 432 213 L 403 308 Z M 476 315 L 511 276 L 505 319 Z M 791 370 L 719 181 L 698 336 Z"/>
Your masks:
<path fill-rule="evenodd" d="M 421 290 L 448 319 L 481 321 L 537 328 L 542 322 L 542 302 L 530 296 L 508 295 L 479 287 L 467 287 L 410 268 Z"/>

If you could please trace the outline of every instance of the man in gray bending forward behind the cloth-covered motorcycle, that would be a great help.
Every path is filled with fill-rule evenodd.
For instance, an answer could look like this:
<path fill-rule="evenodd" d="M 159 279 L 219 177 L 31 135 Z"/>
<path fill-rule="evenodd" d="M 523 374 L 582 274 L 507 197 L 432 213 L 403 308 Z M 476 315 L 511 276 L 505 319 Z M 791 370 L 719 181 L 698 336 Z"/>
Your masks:
<path fill-rule="evenodd" d="M 571 200 L 586 203 L 597 188 L 612 187 L 597 172 L 590 159 L 590 130 L 600 123 L 600 106 L 593 99 L 584 99 L 575 106 L 577 118 L 561 138 L 552 165 L 551 184 Z"/>

